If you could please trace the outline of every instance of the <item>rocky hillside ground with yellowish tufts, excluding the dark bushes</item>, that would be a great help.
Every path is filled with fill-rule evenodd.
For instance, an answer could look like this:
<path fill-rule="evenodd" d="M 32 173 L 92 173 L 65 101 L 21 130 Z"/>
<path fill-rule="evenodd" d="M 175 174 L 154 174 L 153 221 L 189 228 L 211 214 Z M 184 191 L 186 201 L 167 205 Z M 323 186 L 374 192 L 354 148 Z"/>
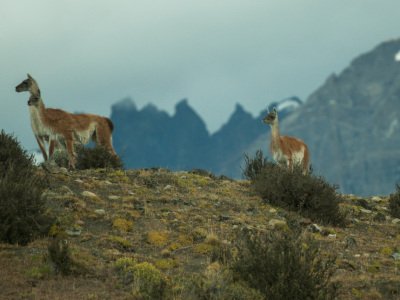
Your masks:
<path fill-rule="evenodd" d="M 115 267 L 121 258 L 161 272 L 167 299 L 198 299 L 193 281 L 222 289 L 223 261 L 238 232 L 285 230 L 285 223 L 302 226 L 322 253 L 337 257 L 339 299 L 400 297 L 400 220 L 388 216 L 387 197 L 343 196 L 345 228 L 313 226 L 262 201 L 247 181 L 201 171 L 59 172 L 49 177 L 44 197 L 57 218 L 50 234 L 67 241 L 74 272 L 55 274 L 47 251 L 52 238 L 0 244 L 0 299 L 132 299 Z M 213 263 L 216 255 L 222 262 Z"/>

